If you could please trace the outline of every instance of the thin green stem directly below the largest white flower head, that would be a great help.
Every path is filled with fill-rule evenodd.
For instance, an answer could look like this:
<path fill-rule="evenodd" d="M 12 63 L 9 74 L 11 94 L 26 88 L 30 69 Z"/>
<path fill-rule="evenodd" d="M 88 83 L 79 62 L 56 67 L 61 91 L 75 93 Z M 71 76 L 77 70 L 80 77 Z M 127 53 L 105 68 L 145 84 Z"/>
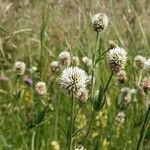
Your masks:
<path fill-rule="evenodd" d="M 68 150 L 72 150 L 72 134 L 74 128 L 74 98 L 73 92 L 71 97 L 71 113 L 70 113 L 70 132 L 69 132 L 69 141 L 68 141 Z"/>

